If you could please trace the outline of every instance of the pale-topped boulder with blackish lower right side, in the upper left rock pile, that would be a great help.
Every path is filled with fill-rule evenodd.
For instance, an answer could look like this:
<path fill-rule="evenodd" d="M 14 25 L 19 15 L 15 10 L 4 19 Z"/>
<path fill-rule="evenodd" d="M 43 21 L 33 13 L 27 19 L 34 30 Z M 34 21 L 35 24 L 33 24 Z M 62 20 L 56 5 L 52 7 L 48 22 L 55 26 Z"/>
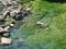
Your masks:
<path fill-rule="evenodd" d="M 22 19 L 23 19 L 22 13 L 21 13 L 20 10 L 21 10 L 21 9 L 19 8 L 19 9 L 13 10 L 13 11 L 11 12 L 11 16 L 12 16 L 14 20 L 22 20 Z"/>

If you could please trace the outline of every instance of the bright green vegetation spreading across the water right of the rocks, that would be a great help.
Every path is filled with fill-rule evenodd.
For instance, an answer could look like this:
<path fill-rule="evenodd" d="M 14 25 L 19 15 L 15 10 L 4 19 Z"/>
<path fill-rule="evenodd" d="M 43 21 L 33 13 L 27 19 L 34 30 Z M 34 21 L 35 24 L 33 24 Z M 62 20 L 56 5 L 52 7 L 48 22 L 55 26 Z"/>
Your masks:
<path fill-rule="evenodd" d="M 29 46 L 23 49 L 66 49 L 66 3 L 34 0 L 24 5 L 32 8 L 33 14 L 19 29 Z M 38 21 L 48 27 L 36 27 Z"/>

